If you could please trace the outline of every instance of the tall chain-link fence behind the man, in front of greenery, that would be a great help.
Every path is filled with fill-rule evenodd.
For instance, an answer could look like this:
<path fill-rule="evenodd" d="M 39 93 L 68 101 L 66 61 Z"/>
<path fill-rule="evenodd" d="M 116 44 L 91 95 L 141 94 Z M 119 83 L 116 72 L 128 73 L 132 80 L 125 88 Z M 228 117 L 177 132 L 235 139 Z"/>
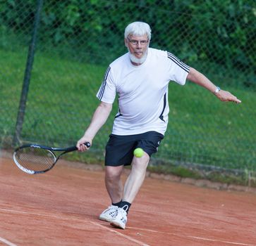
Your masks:
<path fill-rule="evenodd" d="M 243 101 L 221 103 L 193 83 L 170 83 L 169 128 L 154 163 L 256 169 L 254 0 L 6 0 L 0 20 L 2 148 L 15 136 L 16 144 L 73 145 L 90 124 L 106 68 L 127 52 L 124 28 L 142 20 L 152 27 L 150 46 L 173 53 Z M 102 160 L 117 110 L 115 103 L 94 141 L 92 153 Z"/>

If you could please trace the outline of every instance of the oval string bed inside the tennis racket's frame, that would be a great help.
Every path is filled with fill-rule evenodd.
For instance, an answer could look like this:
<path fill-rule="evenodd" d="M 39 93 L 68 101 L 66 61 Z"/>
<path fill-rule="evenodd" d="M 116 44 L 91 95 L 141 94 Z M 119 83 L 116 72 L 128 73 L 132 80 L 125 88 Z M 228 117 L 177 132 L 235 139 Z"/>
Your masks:
<path fill-rule="evenodd" d="M 56 162 L 56 156 L 50 150 L 43 148 L 21 148 L 16 152 L 16 161 L 25 169 L 44 171 L 50 169 Z"/>

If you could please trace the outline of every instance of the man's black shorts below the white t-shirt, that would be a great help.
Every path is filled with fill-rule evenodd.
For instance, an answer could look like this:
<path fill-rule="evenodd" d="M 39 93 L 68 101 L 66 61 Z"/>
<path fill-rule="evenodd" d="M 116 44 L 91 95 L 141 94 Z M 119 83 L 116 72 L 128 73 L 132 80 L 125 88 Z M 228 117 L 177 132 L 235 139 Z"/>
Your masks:
<path fill-rule="evenodd" d="M 133 150 L 142 148 L 147 155 L 151 156 L 157 152 L 164 135 L 157 131 L 147 131 L 144 134 L 128 136 L 109 135 L 106 143 L 106 166 L 130 165 L 133 160 Z"/>

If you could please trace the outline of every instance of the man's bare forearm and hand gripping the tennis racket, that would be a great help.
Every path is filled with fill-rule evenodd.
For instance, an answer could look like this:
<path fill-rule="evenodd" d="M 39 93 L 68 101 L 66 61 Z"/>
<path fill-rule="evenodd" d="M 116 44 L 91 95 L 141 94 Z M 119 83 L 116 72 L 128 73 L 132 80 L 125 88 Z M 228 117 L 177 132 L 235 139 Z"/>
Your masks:
<path fill-rule="evenodd" d="M 87 150 L 87 147 L 83 143 L 89 142 L 92 144 L 92 139 L 95 137 L 99 129 L 101 129 L 101 127 L 105 124 L 111 110 L 112 104 L 104 102 L 99 103 L 99 106 L 95 110 L 95 113 L 92 116 L 92 121 L 89 127 L 86 129 L 84 136 L 80 138 L 76 144 L 79 151 Z"/>

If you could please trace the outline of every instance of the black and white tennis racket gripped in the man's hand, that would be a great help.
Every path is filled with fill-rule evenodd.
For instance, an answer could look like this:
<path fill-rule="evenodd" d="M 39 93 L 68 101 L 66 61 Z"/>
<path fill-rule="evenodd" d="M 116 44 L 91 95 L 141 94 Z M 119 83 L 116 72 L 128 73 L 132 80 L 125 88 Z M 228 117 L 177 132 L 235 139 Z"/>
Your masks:
<path fill-rule="evenodd" d="M 90 143 L 84 143 L 90 148 Z M 22 145 L 13 153 L 17 167 L 28 174 L 43 174 L 51 170 L 62 155 L 78 150 L 76 146 L 68 148 L 51 148 L 44 145 Z M 56 155 L 54 152 L 62 152 Z"/>

